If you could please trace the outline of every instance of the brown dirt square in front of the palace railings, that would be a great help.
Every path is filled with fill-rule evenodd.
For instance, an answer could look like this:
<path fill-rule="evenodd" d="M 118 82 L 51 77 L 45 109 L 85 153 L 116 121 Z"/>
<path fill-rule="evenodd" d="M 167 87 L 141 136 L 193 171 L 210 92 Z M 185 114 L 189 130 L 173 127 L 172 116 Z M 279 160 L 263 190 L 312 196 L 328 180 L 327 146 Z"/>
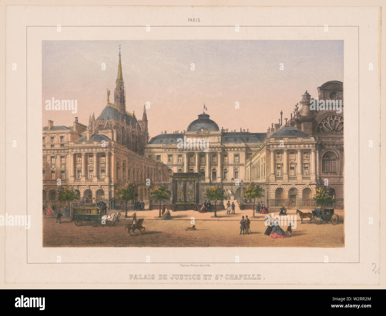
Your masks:
<path fill-rule="evenodd" d="M 190 212 L 190 211 L 189 211 Z M 192 226 L 192 214 L 187 212 L 171 212 L 171 220 L 155 219 L 158 211 L 137 212 L 137 219 L 144 218 L 143 226 L 146 231 L 142 235 L 130 237 L 125 224 L 131 221 L 125 219 L 124 214 L 116 227 L 92 227 L 91 222 L 83 222 L 80 227 L 64 218 L 61 224 L 56 223 L 54 217 L 43 218 L 43 246 L 44 247 L 344 247 L 343 211 L 339 214 L 339 223 L 332 225 L 322 222 L 320 225 L 300 223 L 297 217 L 296 229 L 291 238 L 273 239 L 264 235 L 266 226 L 264 215 L 252 217 L 252 211 L 239 211 L 239 214 L 226 216 L 225 211 L 219 212 L 218 219 L 212 218 L 213 213 L 195 215 L 196 231 L 186 231 Z M 130 216 L 131 216 L 130 212 Z M 242 215 L 249 215 L 251 231 L 249 235 L 240 234 L 240 220 Z M 295 215 L 294 212 L 288 212 Z M 286 231 L 287 226 L 282 226 Z M 131 232 L 132 233 L 132 232 Z M 132 233 L 133 234 L 133 233 Z"/>

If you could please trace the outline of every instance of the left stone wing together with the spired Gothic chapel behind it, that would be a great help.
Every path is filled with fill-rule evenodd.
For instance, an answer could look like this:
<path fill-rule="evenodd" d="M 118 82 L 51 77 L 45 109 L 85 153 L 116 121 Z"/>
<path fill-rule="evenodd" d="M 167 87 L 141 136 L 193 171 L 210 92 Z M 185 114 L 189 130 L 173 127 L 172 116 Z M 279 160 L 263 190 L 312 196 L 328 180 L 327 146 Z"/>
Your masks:
<path fill-rule="evenodd" d="M 142 120 L 126 111 L 120 54 L 114 104 L 107 95 L 106 107 L 97 119 L 90 116 L 88 125 L 75 117 L 72 126 L 48 120 L 43 127 L 43 201 L 56 201 L 60 187 L 66 185 L 74 186 L 85 200 L 108 200 L 127 181 L 134 181 L 139 199 L 146 200 L 147 179 L 166 181 L 164 164 L 143 155 L 149 137 L 146 109 Z"/>

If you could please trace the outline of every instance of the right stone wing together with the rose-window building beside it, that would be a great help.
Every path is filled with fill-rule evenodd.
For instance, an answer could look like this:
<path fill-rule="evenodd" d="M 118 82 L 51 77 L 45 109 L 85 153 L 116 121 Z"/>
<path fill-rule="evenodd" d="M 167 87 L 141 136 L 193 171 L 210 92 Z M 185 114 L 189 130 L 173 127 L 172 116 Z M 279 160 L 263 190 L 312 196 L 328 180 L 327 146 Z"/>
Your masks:
<path fill-rule="evenodd" d="M 344 201 L 343 83 L 329 81 L 318 87 L 318 100 L 334 100 L 337 109 L 313 110 L 308 92 L 290 118 L 271 124 L 261 147 L 246 162 L 247 181 L 265 187 L 271 207 L 310 207 L 318 186 L 326 185 L 335 207 Z M 282 113 L 281 113 L 282 115 Z"/>

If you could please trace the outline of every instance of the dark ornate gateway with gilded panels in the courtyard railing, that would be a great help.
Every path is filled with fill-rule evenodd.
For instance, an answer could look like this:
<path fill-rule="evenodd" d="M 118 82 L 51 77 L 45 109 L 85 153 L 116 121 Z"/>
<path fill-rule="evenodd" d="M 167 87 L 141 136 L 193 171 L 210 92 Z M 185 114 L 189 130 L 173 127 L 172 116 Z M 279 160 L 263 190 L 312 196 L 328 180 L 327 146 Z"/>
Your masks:
<path fill-rule="evenodd" d="M 198 204 L 199 174 L 194 172 L 174 173 L 171 176 L 173 184 L 173 206 L 176 211 L 194 209 Z"/>

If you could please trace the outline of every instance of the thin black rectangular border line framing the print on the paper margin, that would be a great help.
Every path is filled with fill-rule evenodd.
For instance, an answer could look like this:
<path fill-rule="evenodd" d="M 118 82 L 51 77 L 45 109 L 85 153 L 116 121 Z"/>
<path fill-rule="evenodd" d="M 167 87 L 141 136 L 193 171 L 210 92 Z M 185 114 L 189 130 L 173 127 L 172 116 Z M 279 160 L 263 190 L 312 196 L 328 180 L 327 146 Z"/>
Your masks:
<path fill-rule="evenodd" d="M 234 27 L 234 25 L 176 25 L 176 26 L 171 26 L 171 25 L 150 25 L 151 27 Z M 324 27 L 324 25 L 239 25 L 240 27 Z M 360 126 L 359 126 L 359 118 L 360 118 L 360 110 L 359 110 L 359 25 L 329 25 L 331 27 L 357 27 L 358 28 L 358 189 L 360 187 Z M 27 171 L 27 176 L 26 176 L 26 201 L 28 201 L 28 69 L 27 69 L 27 58 L 28 58 L 28 42 L 27 42 L 27 36 L 28 36 L 28 27 L 58 27 L 57 25 L 26 25 L 25 27 L 25 61 L 26 61 L 26 73 L 25 73 L 25 78 L 26 78 L 26 124 L 27 124 L 27 133 L 26 133 L 26 171 Z M 146 27 L 146 25 L 143 26 L 136 26 L 136 25 L 61 25 L 61 27 Z M 26 210 L 27 210 L 27 216 L 28 216 L 28 202 L 26 203 Z M 360 263 L 360 196 L 358 195 L 358 262 L 328 262 L 328 263 Z M 27 264 L 56 264 L 56 262 L 28 262 L 28 229 L 27 229 Z M 79 248 L 84 248 L 84 247 L 79 247 Z M 88 247 L 86 247 L 88 249 Z M 90 247 L 94 248 L 94 247 Z M 120 248 L 120 247 L 118 247 Z M 125 247 L 126 248 L 126 247 Z M 134 247 L 137 248 L 137 247 Z M 152 248 L 152 247 L 149 247 Z M 179 248 L 179 247 L 178 247 Z M 181 247 L 185 248 L 185 247 Z M 201 248 L 201 247 L 200 247 Z M 206 247 L 205 247 L 206 248 Z M 212 248 L 212 247 L 209 247 Z M 230 247 L 230 248 L 237 248 L 237 247 Z M 279 247 L 280 248 L 280 247 Z M 288 247 L 287 247 L 288 248 Z M 292 247 L 290 247 L 292 248 Z M 298 248 L 298 247 L 295 247 Z M 330 248 L 323 248 L 323 249 L 330 249 Z M 335 248 L 333 248 L 335 249 Z M 321 262 L 61 262 L 61 263 L 67 263 L 67 264 L 239 264 L 239 263 L 247 263 L 247 264 L 264 264 L 264 263 L 280 263 L 280 264 L 286 264 L 286 263 L 316 263 L 316 264 L 322 264 L 325 263 L 323 261 Z"/>

